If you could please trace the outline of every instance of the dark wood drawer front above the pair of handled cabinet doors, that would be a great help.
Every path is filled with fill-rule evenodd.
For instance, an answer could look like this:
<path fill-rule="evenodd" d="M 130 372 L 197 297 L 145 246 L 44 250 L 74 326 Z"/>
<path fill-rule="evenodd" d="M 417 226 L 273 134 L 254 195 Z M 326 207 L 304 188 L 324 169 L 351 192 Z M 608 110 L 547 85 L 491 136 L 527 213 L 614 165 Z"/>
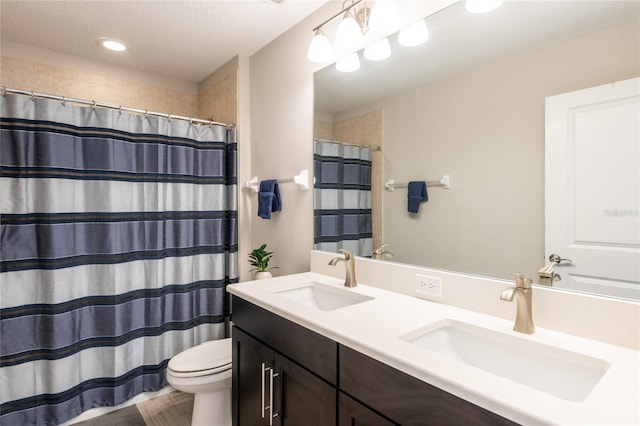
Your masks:
<path fill-rule="evenodd" d="M 233 297 L 232 320 L 236 327 L 337 384 L 338 344 L 333 340 L 238 297 Z"/>

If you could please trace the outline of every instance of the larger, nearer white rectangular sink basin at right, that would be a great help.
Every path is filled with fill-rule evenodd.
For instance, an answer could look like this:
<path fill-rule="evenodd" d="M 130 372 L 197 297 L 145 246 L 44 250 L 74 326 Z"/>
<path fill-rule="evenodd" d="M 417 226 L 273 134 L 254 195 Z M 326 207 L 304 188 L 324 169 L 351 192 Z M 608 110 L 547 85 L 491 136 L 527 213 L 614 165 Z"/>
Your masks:
<path fill-rule="evenodd" d="M 488 373 L 572 401 L 583 401 L 609 368 L 606 361 L 455 320 L 400 339 Z"/>

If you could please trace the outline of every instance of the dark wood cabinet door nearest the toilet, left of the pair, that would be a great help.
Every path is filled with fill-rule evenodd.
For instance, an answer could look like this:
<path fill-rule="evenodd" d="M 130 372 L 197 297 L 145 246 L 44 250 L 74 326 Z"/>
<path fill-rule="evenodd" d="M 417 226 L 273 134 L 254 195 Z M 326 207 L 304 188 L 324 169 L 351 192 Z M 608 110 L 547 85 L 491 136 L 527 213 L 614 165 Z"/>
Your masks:
<path fill-rule="evenodd" d="M 238 328 L 232 335 L 233 425 L 268 426 L 268 378 L 262 365 L 273 366 L 273 351 Z"/>

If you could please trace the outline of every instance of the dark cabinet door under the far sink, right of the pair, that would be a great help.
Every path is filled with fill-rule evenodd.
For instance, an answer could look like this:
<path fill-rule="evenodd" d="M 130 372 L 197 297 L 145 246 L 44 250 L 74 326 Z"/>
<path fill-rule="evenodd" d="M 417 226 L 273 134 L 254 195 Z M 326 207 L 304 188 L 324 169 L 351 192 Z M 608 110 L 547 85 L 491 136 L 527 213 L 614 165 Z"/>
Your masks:
<path fill-rule="evenodd" d="M 274 357 L 278 373 L 274 403 L 277 424 L 335 425 L 337 390 L 278 352 Z"/>

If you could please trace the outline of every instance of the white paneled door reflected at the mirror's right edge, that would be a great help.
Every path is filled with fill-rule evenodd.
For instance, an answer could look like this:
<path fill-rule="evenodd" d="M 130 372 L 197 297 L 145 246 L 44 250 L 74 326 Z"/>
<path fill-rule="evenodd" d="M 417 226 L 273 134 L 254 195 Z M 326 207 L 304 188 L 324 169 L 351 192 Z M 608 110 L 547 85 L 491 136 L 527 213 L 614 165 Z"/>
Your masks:
<path fill-rule="evenodd" d="M 546 99 L 554 287 L 640 300 L 640 79 Z"/>

